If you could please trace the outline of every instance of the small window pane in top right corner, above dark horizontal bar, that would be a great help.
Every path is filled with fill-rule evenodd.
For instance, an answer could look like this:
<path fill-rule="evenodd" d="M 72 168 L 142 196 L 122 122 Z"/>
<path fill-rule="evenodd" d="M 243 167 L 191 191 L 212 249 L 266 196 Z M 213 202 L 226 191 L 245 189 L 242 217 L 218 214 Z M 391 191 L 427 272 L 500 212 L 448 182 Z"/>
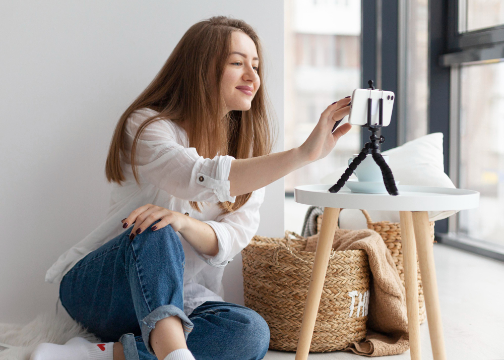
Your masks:
<path fill-rule="evenodd" d="M 504 0 L 461 0 L 459 9 L 466 12 L 459 19 L 467 19 L 466 28 L 459 27 L 459 30 L 473 31 L 504 24 Z"/>

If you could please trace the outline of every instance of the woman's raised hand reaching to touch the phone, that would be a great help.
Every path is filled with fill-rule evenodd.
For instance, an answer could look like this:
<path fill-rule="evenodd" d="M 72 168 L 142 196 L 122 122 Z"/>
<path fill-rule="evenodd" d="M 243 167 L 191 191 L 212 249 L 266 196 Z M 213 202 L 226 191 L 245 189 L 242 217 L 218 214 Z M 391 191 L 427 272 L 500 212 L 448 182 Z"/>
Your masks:
<path fill-rule="evenodd" d="M 334 148 L 338 139 L 352 128 L 350 124 L 346 123 L 332 132 L 335 123 L 341 121 L 343 117 L 350 113 L 350 106 L 348 106 L 350 101 L 351 98 L 348 96 L 329 105 L 322 112 L 319 123 L 299 147 L 310 162 L 326 157 Z"/>

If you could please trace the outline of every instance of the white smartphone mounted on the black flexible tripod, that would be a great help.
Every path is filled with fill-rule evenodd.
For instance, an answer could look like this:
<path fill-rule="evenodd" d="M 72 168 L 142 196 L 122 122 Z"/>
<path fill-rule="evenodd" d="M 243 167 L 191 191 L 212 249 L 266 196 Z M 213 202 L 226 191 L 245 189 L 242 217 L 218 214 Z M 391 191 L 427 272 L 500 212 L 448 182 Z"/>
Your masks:
<path fill-rule="evenodd" d="M 392 108 L 394 107 L 394 93 L 392 91 L 355 89 L 352 93 L 352 103 L 350 104 L 350 114 L 348 122 L 351 125 L 367 125 L 368 99 L 371 98 L 371 125 L 379 124 L 379 100 L 383 98 L 383 118 L 382 126 L 390 124 Z"/>

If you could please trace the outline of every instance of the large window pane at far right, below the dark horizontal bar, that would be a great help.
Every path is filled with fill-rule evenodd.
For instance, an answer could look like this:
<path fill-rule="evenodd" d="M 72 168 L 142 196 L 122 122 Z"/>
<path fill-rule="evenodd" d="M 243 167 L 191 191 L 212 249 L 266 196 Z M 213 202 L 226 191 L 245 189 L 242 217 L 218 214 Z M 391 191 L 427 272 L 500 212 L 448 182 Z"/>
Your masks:
<path fill-rule="evenodd" d="M 504 245 L 504 63 L 463 66 L 459 187 L 480 192 L 459 213 L 459 232 Z"/>

